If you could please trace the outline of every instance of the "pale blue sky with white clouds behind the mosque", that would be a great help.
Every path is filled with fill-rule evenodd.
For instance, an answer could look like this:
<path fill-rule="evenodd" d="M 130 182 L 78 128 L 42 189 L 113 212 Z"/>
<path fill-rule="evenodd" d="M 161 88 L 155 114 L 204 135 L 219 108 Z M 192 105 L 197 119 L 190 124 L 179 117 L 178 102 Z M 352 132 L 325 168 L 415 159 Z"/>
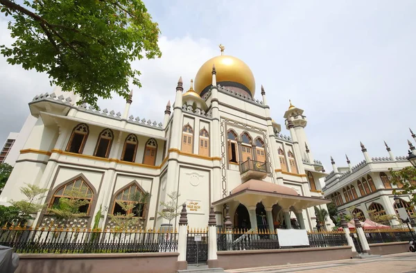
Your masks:
<path fill-rule="evenodd" d="M 370 157 L 407 155 L 409 127 L 416 132 L 416 1 L 144 1 L 162 31 L 162 58 L 134 62 L 142 88 L 132 86 L 133 116 L 163 121 L 177 80 L 184 89 L 199 67 L 225 54 L 243 60 L 266 89 L 272 118 L 284 125 L 288 100 L 304 109 L 314 158 L 331 171 L 330 156 L 346 166 Z M 0 17 L 0 44 L 11 44 Z M 7 64 L 0 56 L 0 143 L 19 132 L 28 103 L 53 88 L 45 74 Z M 123 112 L 125 101 L 99 100 Z M 284 127 L 284 126 L 282 126 Z M 284 134 L 289 134 L 282 130 Z M 413 144 L 416 145 L 413 141 Z"/>

